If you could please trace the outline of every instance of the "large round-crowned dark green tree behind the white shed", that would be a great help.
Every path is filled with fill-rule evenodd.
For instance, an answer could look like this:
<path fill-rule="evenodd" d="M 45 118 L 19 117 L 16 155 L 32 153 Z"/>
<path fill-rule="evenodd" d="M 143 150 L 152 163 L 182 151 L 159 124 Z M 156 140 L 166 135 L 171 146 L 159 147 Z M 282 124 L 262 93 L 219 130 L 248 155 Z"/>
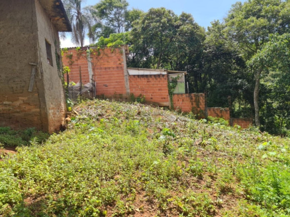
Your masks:
<path fill-rule="evenodd" d="M 204 30 L 190 14 L 177 16 L 165 8 L 150 9 L 133 23 L 133 67 L 185 70 L 202 51 Z"/>

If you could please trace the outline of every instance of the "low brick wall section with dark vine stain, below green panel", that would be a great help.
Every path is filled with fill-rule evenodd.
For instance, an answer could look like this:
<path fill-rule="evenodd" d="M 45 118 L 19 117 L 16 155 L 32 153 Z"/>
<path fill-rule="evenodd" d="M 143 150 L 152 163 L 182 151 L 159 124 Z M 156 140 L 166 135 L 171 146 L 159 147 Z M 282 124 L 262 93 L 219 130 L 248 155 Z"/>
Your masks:
<path fill-rule="evenodd" d="M 175 110 L 192 112 L 198 118 L 205 118 L 204 93 L 173 94 L 173 107 Z"/>

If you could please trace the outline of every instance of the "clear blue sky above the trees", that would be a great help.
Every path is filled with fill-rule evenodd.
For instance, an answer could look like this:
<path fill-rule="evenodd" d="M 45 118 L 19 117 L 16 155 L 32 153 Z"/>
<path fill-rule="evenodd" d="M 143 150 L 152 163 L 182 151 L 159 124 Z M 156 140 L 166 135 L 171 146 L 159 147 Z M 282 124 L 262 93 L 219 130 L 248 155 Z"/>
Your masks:
<path fill-rule="evenodd" d="M 96 5 L 100 0 L 86 0 L 85 5 Z M 223 21 L 236 0 L 127 0 L 129 9 L 135 8 L 147 12 L 151 8 L 164 7 L 180 15 L 182 12 L 193 16 L 198 25 L 207 29 L 214 20 Z M 245 0 L 240 0 L 245 2 Z M 88 42 L 87 42 L 88 43 Z M 61 42 L 61 47 L 74 47 L 69 37 Z"/>

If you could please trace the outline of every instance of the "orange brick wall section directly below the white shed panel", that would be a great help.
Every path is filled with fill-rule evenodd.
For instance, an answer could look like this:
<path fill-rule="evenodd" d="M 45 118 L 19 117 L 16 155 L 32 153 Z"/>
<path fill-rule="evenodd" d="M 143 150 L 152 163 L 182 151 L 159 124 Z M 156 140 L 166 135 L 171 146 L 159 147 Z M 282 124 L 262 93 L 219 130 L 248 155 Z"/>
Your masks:
<path fill-rule="evenodd" d="M 168 75 L 130 75 L 129 83 L 134 96 L 141 94 L 146 101 L 169 106 Z"/>

